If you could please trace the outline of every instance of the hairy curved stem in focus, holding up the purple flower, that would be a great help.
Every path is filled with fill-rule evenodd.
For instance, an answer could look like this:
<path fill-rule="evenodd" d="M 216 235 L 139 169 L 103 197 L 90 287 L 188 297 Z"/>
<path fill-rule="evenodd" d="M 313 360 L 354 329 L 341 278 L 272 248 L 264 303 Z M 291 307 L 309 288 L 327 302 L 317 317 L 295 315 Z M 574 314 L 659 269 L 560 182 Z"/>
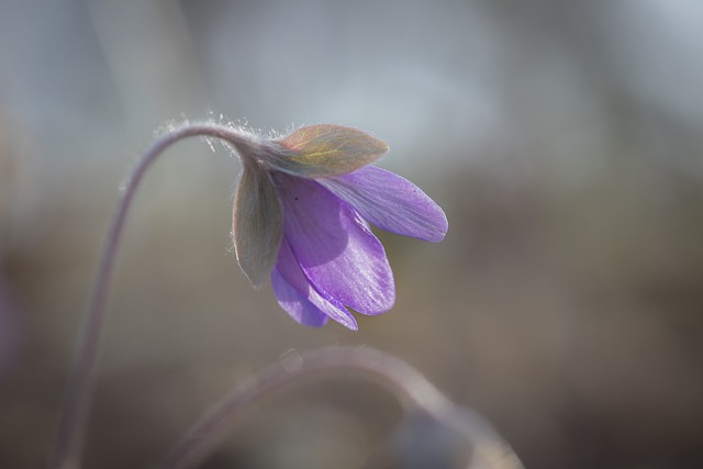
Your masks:
<path fill-rule="evenodd" d="M 154 142 L 132 170 L 122 192 L 122 198 L 112 214 L 96 281 L 82 320 L 82 332 L 80 333 L 59 415 L 54 454 L 49 464 L 52 469 L 78 469 L 80 467 L 85 427 L 91 405 L 109 286 L 114 273 L 120 238 L 134 193 L 146 170 L 166 148 L 180 139 L 192 136 L 222 138 L 233 146 L 245 145 L 253 138 L 235 129 L 214 123 L 185 125 L 166 133 Z"/>

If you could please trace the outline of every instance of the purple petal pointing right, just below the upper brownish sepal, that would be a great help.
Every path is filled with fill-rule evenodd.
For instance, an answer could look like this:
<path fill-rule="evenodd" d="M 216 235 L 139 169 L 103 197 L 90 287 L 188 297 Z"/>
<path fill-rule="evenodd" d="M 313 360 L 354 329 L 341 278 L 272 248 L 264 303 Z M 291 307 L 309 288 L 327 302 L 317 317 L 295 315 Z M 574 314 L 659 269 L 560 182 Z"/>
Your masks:
<path fill-rule="evenodd" d="M 320 183 L 352 204 L 376 226 L 433 243 L 447 234 L 444 211 L 408 179 L 375 166 Z"/>

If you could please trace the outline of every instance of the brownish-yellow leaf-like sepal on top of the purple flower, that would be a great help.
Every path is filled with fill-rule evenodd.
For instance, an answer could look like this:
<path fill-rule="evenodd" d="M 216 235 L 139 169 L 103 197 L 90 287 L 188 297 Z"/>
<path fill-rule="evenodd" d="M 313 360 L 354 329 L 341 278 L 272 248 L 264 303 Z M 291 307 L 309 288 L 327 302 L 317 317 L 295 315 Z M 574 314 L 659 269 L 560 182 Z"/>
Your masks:
<path fill-rule="evenodd" d="M 275 169 L 291 175 L 320 178 L 344 175 L 377 160 L 388 145 L 358 129 L 342 125 L 310 125 L 277 142 L 281 155 L 267 159 Z"/>

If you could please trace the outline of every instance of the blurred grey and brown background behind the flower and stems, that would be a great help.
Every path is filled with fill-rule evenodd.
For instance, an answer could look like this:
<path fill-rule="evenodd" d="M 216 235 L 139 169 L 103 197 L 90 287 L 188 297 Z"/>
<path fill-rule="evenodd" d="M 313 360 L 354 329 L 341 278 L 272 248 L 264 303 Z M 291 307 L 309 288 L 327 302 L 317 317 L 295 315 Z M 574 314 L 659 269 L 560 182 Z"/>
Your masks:
<path fill-rule="evenodd" d="M 86 467 L 148 467 L 257 369 L 332 344 L 417 367 L 527 468 L 703 467 L 703 3 L 0 0 L 0 467 L 44 467 L 119 189 L 214 119 L 354 125 L 445 210 L 379 233 L 397 306 L 299 326 L 230 241 L 238 161 L 168 150 L 130 215 Z M 291 390 L 207 468 L 358 468 L 402 412 Z"/>

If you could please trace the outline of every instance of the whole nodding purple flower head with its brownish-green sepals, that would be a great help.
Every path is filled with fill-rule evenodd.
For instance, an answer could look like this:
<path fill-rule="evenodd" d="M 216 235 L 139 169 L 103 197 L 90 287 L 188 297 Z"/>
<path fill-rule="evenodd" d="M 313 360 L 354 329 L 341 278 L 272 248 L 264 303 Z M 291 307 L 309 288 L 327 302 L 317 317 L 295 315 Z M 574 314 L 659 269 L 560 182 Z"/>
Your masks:
<path fill-rule="evenodd" d="M 270 275 L 278 303 L 301 324 L 333 319 L 356 331 L 347 308 L 375 315 L 393 306 L 393 273 L 367 222 L 429 242 L 447 232 L 444 212 L 422 190 L 368 166 L 388 146 L 359 130 L 312 125 L 235 147 L 237 260 L 255 287 Z"/>

